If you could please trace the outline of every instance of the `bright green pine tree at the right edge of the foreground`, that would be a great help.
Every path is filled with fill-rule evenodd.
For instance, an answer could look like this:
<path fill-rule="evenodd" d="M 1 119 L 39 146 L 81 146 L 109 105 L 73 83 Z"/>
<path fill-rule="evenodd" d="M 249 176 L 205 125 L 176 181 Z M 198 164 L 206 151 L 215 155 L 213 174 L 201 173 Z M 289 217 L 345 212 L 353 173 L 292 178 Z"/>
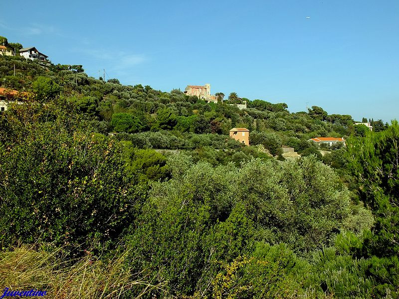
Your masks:
<path fill-rule="evenodd" d="M 359 183 L 359 195 L 373 210 L 376 224 L 369 240 L 370 254 L 399 253 L 399 125 L 365 138 L 353 139 L 348 147 L 351 170 Z"/>

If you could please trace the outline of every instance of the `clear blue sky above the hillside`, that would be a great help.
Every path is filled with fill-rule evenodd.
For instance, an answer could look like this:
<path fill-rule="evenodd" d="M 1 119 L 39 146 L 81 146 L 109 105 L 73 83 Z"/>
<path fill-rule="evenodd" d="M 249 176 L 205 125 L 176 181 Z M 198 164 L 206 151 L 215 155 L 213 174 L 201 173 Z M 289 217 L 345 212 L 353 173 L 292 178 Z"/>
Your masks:
<path fill-rule="evenodd" d="M 398 0 L 2 0 L 0 11 L 8 41 L 91 76 L 399 119 Z"/>

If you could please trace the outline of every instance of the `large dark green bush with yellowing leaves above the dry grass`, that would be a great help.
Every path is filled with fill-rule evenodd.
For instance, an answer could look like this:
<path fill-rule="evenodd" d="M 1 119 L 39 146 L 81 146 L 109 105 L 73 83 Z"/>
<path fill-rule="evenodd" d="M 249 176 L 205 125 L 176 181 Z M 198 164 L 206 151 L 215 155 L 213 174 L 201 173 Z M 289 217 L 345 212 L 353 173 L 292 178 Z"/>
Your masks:
<path fill-rule="evenodd" d="M 0 115 L 0 123 L 14 129 L 13 138 L 3 136 L 0 144 L 0 242 L 115 246 L 135 217 L 141 187 L 125 171 L 121 147 L 87 133 L 88 124 L 73 113 L 58 110 L 51 122 L 23 126 L 32 108 L 40 110 L 34 116 L 40 118 L 57 104 L 26 104 L 17 115 L 13 110 Z"/>

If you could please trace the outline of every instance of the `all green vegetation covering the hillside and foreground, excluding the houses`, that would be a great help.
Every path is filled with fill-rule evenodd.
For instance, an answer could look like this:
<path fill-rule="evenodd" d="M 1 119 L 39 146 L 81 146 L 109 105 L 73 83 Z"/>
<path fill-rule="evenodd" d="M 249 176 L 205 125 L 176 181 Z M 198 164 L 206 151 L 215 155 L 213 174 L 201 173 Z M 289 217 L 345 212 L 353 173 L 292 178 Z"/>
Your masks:
<path fill-rule="evenodd" d="M 0 287 L 399 298 L 398 122 L 370 132 L 316 106 L 239 110 L 21 57 L 0 57 L 0 82 L 25 92 L 0 113 Z M 347 147 L 321 156 L 314 137 Z M 302 157 L 284 161 L 282 145 Z"/>

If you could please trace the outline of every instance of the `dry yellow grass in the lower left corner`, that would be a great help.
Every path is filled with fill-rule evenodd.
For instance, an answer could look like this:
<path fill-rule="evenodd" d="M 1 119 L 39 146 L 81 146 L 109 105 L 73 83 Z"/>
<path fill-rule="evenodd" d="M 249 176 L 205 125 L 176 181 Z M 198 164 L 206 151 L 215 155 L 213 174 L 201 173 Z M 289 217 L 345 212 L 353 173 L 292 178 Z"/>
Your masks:
<path fill-rule="evenodd" d="M 138 299 L 165 286 L 152 285 L 140 273 L 132 275 L 126 269 L 127 252 L 107 263 L 90 253 L 71 262 L 57 257 L 60 249 L 47 252 L 35 247 L 22 245 L 0 253 L 0 291 L 5 287 L 15 291 L 38 289 L 47 291 L 46 299 L 110 299 L 140 290 L 133 297 L 129 295 Z"/>

